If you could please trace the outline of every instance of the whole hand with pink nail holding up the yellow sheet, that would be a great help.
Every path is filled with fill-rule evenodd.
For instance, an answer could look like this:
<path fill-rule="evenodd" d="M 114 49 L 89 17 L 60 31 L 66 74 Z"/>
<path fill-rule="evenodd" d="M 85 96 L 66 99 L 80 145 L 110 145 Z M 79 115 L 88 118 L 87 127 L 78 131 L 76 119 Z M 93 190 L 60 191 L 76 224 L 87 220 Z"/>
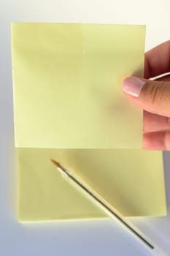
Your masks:
<path fill-rule="evenodd" d="M 170 40 L 145 53 L 144 78 L 123 81 L 123 91 L 131 102 L 144 110 L 143 148 L 170 150 Z"/>

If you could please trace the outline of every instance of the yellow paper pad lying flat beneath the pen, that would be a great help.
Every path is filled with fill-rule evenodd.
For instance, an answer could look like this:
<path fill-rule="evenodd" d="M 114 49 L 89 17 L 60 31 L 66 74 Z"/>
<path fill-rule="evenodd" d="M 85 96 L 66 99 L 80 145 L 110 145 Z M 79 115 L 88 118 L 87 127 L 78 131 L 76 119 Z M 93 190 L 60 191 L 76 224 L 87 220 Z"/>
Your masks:
<path fill-rule="evenodd" d="M 50 162 L 56 159 L 125 216 L 166 214 L 162 153 L 18 148 L 20 222 L 107 217 Z"/>

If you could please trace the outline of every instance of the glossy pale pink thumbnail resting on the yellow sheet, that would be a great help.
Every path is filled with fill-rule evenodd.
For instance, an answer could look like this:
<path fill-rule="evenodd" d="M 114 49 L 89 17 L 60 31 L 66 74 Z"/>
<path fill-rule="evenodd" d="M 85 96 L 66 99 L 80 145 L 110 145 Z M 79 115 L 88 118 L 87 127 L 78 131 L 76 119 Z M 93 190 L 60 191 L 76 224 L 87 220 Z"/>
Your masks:
<path fill-rule="evenodd" d="M 131 94 L 134 97 L 139 97 L 144 83 L 146 83 L 144 80 L 136 77 L 125 78 L 123 81 L 123 91 L 125 91 L 126 94 Z"/>

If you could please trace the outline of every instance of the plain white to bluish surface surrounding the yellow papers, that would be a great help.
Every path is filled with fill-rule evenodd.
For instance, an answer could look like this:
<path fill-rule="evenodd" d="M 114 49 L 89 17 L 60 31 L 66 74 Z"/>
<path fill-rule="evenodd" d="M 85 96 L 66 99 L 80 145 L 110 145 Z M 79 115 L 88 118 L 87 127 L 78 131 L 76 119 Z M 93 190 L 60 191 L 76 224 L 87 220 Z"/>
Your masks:
<path fill-rule="evenodd" d="M 20 225 L 15 217 L 10 22 L 147 24 L 146 50 L 170 39 L 169 0 L 0 1 L 0 255 L 150 255 L 114 223 L 61 222 Z M 170 154 L 166 195 L 170 208 Z M 31 184 L 30 184 L 31 189 Z M 170 217 L 131 219 L 170 255 Z"/>

